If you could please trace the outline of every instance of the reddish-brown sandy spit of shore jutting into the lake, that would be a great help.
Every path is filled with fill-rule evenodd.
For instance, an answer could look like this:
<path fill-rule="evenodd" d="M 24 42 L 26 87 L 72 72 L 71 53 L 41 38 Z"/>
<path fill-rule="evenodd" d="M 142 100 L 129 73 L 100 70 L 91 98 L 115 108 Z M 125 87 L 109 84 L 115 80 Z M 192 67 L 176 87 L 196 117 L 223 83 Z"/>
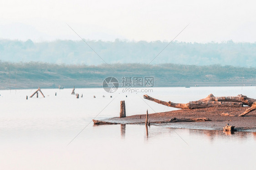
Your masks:
<path fill-rule="evenodd" d="M 205 109 L 180 109 L 168 112 L 148 114 L 150 122 L 168 121 L 173 118 L 209 118 L 211 121 L 195 122 L 173 122 L 173 123 L 154 123 L 151 125 L 161 125 L 173 128 L 185 129 L 207 129 L 222 130 L 226 125 L 233 125 L 238 131 L 256 131 L 256 111 L 244 117 L 238 117 L 249 107 L 211 107 Z M 232 115 L 232 116 L 230 116 Z M 146 115 L 132 115 L 125 118 L 113 117 L 101 121 L 106 124 L 144 124 Z M 104 124 L 104 123 L 103 123 Z"/>

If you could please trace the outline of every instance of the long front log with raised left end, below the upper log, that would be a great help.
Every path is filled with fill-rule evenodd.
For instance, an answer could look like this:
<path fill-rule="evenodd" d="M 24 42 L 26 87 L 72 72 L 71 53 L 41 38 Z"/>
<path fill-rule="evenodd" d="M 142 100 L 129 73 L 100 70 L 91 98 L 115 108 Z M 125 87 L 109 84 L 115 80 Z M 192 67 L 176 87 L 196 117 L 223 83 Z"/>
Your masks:
<path fill-rule="evenodd" d="M 200 108 L 208 108 L 215 106 L 230 106 L 230 107 L 242 107 L 243 104 L 240 102 L 227 102 L 227 101 L 207 101 L 205 99 L 198 101 L 190 101 L 189 103 L 173 103 L 171 101 L 166 102 L 158 99 L 154 99 L 148 95 L 143 95 L 144 99 L 154 101 L 161 105 L 167 105 L 169 107 L 179 108 L 179 109 L 200 109 Z"/>

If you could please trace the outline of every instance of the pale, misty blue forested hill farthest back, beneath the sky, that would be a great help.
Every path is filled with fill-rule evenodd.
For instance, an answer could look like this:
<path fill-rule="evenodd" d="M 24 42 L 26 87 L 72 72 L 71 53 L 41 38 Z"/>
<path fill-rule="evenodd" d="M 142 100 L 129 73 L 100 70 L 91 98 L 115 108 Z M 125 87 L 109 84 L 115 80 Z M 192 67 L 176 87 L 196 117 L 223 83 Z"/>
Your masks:
<path fill-rule="evenodd" d="M 87 44 L 108 64 L 148 64 L 169 42 L 87 40 Z M 82 40 L 56 40 L 35 43 L 31 40 L 0 40 L 0 60 L 8 62 L 47 62 L 52 64 L 100 65 L 100 59 Z M 151 63 L 179 65 L 232 65 L 255 67 L 256 43 L 173 42 Z"/>

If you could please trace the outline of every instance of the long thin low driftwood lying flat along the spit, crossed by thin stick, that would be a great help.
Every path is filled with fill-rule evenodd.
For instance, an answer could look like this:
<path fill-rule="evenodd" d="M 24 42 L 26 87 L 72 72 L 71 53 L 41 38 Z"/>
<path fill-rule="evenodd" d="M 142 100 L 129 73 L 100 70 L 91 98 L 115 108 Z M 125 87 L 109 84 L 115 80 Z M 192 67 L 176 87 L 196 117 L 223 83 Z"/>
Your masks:
<path fill-rule="evenodd" d="M 115 124 L 143 124 L 143 121 L 133 122 L 133 123 L 125 123 L 125 122 L 111 122 L 111 121 L 101 121 L 101 120 L 92 120 L 94 125 L 115 125 Z M 211 121 L 209 118 L 200 117 L 200 118 L 172 118 L 169 120 L 163 121 L 153 121 L 152 123 L 175 123 L 175 122 L 195 122 L 195 121 Z"/>

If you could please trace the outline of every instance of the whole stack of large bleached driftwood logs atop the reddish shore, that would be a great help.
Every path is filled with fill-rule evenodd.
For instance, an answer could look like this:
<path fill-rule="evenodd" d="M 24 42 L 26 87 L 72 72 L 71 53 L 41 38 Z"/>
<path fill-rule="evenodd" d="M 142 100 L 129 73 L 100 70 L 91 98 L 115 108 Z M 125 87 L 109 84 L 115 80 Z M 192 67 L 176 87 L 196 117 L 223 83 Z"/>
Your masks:
<path fill-rule="evenodd" d="M 243 96 L 243 95 L 238 95 Z M 215 106 L 229 106 L 229 107 L 242 107 L 243 102 L 247 103 L 248 105 L 251 103 L 248 100 L 244 100 L 244 97 L 215 97 L 214 95 L 210 94 L 205 99 L 197 100 L 197 101 L 190 101 L 189 103 L 173 103 L 171 101 L 166 102 L 158 99 L 154 99 L 148 95 L 143 95 L 144 99 L 154 101 L 161 105 L 167 105 L 169 107 L 179 108 L 179 109 L 200 109 L 200 108 L 208 108 L 208 107 L 215 107 Z M 246 97 L 247 98 L 247 97 Z M 243 101 L 243 102 L 242 102 Z"/>

